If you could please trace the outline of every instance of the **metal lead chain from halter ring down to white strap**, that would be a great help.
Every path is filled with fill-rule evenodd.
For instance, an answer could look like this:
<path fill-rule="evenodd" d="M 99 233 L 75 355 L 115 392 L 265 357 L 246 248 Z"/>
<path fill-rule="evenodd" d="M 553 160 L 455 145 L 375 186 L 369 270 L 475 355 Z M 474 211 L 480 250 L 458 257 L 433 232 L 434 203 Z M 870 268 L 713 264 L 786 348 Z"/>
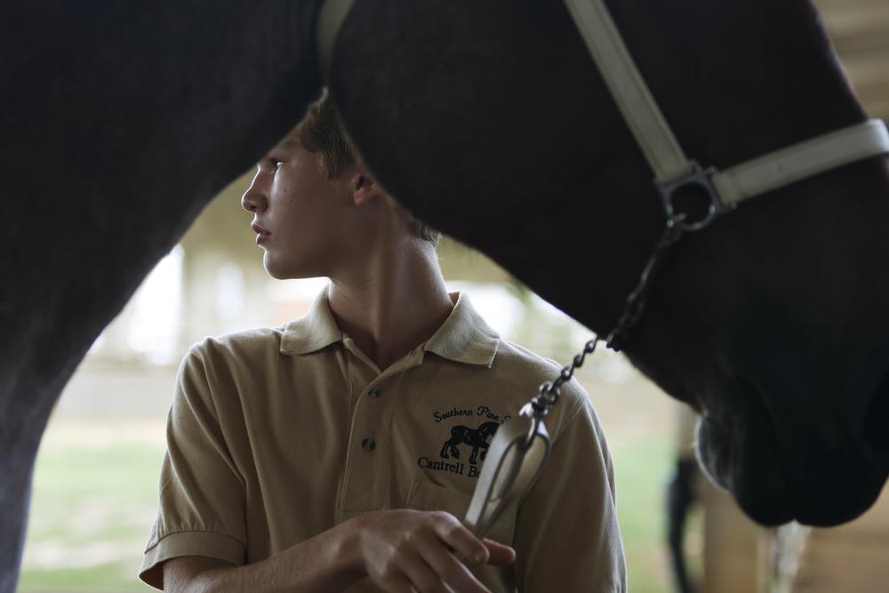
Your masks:
<path fill-rule="evenodd" d="M 637 324 L 639 317 L 642 317 L 642 313 L 645 310 L 645 297 L 648 292 L 649 279 L 652 276 L 654 268 L 656 268 L 661 261 L 664 252 L 666 252 L 669 247 L 672 244 L 675 244 L 682 236 L 683 228 L 680 223 L 684 219 L 685 214 L 678 214 L 667 220 L 667 226 L 664 228 L 661 238 L 658 240 L 657 244 L 654 245 L 652 255 L 648 258 L 648 262 L 645 263 L 645 268 L 642 269 L 642 276 L 639 277 L 639 283 L 636 285 L 633 292 L 629 293 L 627 303 L 624 305 L 623 312 L 618 319 L 617 325 L 605 339 L 608 348 L 613 349 L 615 352 L 620 351 L 618 339 L 624 337 L 626 332 L 633 327 L 633 325 Z M 598 336 L 588 341 L 581 352 L 574 357 L 571 365 L 562 367 L 562 371 L 559 372 L 555 381 L 547 381 L 541 385 L 540 393 L 533 397 L 528 404 L 531 406 L 528 412 L 532 413 L 534 418 L 541 420 L 549 413 L 549 410 L 556 404 L 562 393 L 562 385 L 567 381 L 571 381 L 571 378 L 574 375 L 574 370 L 583 365 L 583 361 L 587 355 L 596 351 L 598 343 Z"/>

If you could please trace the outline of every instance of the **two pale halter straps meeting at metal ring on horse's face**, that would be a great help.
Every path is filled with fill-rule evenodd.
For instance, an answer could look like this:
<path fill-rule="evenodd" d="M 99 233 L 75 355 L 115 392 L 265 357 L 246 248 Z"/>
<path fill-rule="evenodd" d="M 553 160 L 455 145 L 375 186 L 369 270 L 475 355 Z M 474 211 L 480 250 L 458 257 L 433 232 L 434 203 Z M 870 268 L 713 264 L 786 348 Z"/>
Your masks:
<path fill-rule="evenodd" d="M 565 4 L 645 153 L 661 193 L 669 194 L 686 181 L 707 184 L 716 194 L 719 203 L 716 205 L 725 211 L 749 197 L 869 156 L 889 153 L 885 124 L 872 119 L 760 156 L 724 172 L 702 171 L 683 153 L 603 0 L 565 0 Z M 669 202 L 669 195 L 665 199 Z"/>

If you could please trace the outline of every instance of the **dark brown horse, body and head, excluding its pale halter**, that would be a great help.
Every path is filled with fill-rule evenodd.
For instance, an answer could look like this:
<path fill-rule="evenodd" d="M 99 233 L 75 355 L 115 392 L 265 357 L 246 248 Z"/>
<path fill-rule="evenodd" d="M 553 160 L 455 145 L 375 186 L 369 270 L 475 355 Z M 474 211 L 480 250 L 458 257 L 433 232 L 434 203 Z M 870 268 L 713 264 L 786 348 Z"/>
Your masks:
<path fill-rule="evenodd" d="M 319 4 L 4 6 L 3 593 L 60 390 L 204 204 L 318 96 Z M 609 7 L 702 164 L 866 119 L 807 0 Z M 663 213 L 562 3 L 358 0 L 330 80 L 393 196 L 592 330 L 612 328 Z M 884 158 L 757 198 L 673 248 L 625 343 L 701 411 L 701 457 L 761 522 L 841 523 L 885 483 L 887 236 Z"/>

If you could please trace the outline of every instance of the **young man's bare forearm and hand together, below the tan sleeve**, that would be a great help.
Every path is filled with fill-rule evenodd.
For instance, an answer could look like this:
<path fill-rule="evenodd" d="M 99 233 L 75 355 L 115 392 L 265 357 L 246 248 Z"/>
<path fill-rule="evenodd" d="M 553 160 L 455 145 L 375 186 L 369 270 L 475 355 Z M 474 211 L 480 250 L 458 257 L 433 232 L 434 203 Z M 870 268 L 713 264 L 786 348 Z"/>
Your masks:
<path fill-rule="evenodd" d="M 176 557 L 160 565 L 174 593 L 318 593 L 347 589 L 366 574 L 394 593 L 490 593 L 472 565 L 509 565 L 516 552 L 477 539 L 453 515 L 379 510 L 359 515 L 250 565 Z"/>

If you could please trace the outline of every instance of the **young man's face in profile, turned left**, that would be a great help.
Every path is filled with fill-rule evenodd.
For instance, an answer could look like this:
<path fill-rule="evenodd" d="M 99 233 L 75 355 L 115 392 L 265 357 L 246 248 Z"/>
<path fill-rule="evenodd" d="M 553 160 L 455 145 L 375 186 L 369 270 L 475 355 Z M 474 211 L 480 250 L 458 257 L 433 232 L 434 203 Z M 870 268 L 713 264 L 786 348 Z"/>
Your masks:
<path fill-rule="evenodd" d="M 327 179 L 316 154 L 293 141 L 285 140 L 260 161 L 241 205 L 253 212 L 263 265 L 276 278 L 332 276 L 366 232 L 348 171 L 336 181 Z"/>

